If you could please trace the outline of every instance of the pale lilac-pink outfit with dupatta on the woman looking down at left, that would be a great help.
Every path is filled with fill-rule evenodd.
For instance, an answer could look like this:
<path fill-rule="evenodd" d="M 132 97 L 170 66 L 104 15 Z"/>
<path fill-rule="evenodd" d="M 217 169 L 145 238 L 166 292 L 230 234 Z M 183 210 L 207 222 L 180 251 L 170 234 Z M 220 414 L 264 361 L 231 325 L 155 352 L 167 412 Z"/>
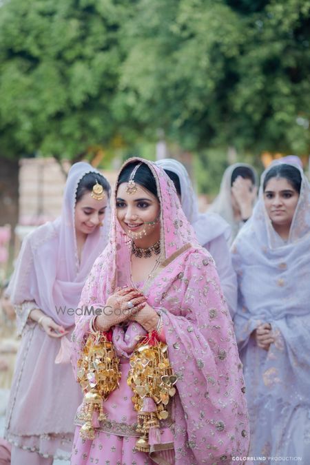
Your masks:
<path fill-rule="evenodd" d="M 25 238 L 8 287 L 22 335 L 6 415 L 5 435 L 13 445 L 12 457 L 14 448 L 37 452 L 45 458 L 70 456 L 73 419 L 81 402 L 81 389 L 72 376 L 70 362 L 55 364 L 57 354 L 61 361 L 60 349 L 65 349 L 70 341 L 66 337 L 51 338 L 37 322 L 28 320 L 28 316 L 32 309 L 39 308 L 72 331 L 74 315 L 66 313 L 65 307 L 76 308 L 87 274 L 107 242 L 106 224 L 87 236 L 79 263 L 74 227 L 75 196 L 79 181 L 90 172 L 97 171 L 87 163 L 72 166 L 61 218 L 46 223 Z M 105 222 L 109 222 L 109 214 Z M 29 456 L 28 463 L 37 463 L 34 454 Z M 21 461 L 17 459 L 12 464 L 20 465 L 18 460 Z"/>

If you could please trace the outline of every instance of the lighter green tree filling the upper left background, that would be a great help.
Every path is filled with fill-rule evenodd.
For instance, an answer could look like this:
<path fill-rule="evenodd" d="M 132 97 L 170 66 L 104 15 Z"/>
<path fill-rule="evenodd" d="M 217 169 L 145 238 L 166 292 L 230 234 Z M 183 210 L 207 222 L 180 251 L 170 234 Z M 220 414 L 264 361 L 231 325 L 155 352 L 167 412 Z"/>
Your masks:
<path fill-rule="evenodd" d="M 78 159 L 111 144 L 126 7 L 126 0 L 2 2 L 2 154 Z"/>

